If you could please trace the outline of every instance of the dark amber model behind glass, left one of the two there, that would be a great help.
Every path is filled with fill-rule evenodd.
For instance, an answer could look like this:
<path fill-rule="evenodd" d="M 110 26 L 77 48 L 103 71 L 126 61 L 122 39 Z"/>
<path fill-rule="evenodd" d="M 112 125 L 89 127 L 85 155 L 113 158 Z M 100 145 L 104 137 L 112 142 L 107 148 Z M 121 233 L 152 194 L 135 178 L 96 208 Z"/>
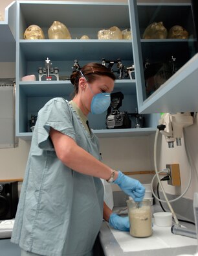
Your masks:
<path fill-rule="evenodd" d="M 165 39 L 167 34 L 167 29 L 162 21 L 153 22 L 145 29 L 143 39 Z"/>

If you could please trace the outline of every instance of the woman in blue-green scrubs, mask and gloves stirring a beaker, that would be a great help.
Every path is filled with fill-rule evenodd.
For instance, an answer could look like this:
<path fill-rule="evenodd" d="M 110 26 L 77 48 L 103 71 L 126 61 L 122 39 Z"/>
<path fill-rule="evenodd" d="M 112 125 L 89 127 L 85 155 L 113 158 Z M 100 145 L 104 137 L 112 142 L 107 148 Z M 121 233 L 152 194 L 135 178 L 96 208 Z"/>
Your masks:
<path fill-rule="evenodd" d="M 142 201 L 144 187 L 100 161 L 98 138 L 87 122 L 89 112 L 109 107 L 114 81 L 102 64 L 86 64 L 71 75 L 72 101 L 57 97 L 39 110 L 11 238 L 22 256 L 92 255 L 103 218 L 129 231 L 129 219 L 105 205 L 100 179 L 135 201 Z"/>

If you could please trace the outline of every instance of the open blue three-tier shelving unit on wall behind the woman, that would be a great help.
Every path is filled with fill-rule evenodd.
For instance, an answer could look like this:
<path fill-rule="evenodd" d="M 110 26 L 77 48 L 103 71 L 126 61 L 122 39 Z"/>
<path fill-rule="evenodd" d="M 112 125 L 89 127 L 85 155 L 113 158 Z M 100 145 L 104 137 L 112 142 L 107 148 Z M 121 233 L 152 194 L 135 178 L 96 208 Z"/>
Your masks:
<path fill-rule="evenodd" d="M 47 31 L 53 21 L 64 23 L 71 32 L 71 40 L 50 40 Z M 24 40 L 23 33 L 29 25 L 43 30 L 45 39 Z M 73 91 L 70 81 L 38 81 L 38 67 L 45 66 L 49 58 L 61 76 L 72 73 L 75 59 L 80 66 L 87 62 L 101 62 L 120 58 L 124 66 L 131 66 L 133 47 L 131 40 L 98 40 L 97 32 L 116 26 L 130 28 L 129 6 L 125 3 L 83 3 L 55 1 L 17 1 L 16 18 L 16 135 L 30 140 L 28 126 L 31 115 L 52 97 L 70 99 Z M 89 40 L 79 38 L 87 34 Z M 102 63 L 102 62 L 101 62 Z M 36 81 L 24 82 L 21 77 L 34 74 Z M 121 91 L 124 101 L 120 110 L 137 109 L 137 79 L 116 79 L 114 92 Z M 90 115 L 91 127 L 99 137 L 145 136 L 155 133 L 158 115 L 145 115 L 146 128 L 106 129 L 106 114 Z"/>

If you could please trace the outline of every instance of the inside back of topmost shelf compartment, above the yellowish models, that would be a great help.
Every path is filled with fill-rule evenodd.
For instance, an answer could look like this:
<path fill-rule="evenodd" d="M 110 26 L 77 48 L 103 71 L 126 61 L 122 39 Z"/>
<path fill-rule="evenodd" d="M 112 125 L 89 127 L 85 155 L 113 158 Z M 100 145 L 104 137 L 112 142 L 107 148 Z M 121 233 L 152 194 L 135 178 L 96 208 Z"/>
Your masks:
<path fill-rule="evenodd" d="M 27 26 L 37 20 L 40 27 L 50 27 L 54 20 L 60 20 L 67 27 L 129 27 L 127 3 L 19 1 L 19 5 Z"/>

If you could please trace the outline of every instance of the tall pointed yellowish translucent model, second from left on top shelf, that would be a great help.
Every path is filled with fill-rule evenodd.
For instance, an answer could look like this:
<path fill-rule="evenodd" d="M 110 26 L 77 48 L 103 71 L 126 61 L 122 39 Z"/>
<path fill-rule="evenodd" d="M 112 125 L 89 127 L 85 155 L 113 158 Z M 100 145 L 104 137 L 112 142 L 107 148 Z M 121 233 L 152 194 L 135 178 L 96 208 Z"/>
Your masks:
<path fill-rule="evenodd" d="M 48 30 L 49 39 L 71 39 L 67 27 L 60 21 L 54 21 Z"/>

